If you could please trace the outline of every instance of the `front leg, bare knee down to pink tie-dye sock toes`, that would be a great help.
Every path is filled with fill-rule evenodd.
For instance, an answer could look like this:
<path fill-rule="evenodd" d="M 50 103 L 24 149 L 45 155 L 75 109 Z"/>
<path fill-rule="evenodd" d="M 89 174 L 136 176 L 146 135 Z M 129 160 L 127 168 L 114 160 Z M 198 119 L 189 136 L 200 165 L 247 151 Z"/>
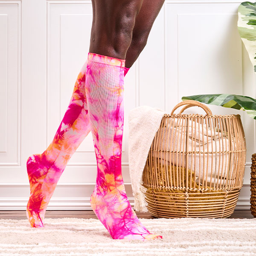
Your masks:
<path fill-rule="evenodd" d="M 95 17 L 85 82 L 97 160 L 90 203 L 113 239 L 157 239 L 162 237 L 149 232 L 137 218 L 122 179 L 124 58 L 141 1 L 125 3 L 126 6 L 119 0 L 93 1 Z"/>

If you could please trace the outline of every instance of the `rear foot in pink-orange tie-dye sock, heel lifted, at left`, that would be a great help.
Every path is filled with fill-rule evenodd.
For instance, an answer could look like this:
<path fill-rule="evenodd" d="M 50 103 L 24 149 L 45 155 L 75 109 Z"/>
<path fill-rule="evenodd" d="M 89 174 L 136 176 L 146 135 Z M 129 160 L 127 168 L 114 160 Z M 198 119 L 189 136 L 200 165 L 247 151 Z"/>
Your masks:
<path fill-rule="evenodd" d="M 31 227 L 44 227 L 44 215 L 55 190 L 61 170 L 47 161 L 44 154 L 33 154 L 27 162 L 30 196 L 26 216 Z"/>

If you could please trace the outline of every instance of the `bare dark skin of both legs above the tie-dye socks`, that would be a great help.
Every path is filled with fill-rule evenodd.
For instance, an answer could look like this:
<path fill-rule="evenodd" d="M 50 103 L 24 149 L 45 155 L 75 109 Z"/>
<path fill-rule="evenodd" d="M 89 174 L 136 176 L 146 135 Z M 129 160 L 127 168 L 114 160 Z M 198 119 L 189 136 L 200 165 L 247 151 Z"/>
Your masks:
<path fill-rule="evenodd" d="M 92 3 L 93 25 L 89 51 L 125 59 L 125 67 L 131 67 L 147 43 L 164 0 L 92 0 Z"/>

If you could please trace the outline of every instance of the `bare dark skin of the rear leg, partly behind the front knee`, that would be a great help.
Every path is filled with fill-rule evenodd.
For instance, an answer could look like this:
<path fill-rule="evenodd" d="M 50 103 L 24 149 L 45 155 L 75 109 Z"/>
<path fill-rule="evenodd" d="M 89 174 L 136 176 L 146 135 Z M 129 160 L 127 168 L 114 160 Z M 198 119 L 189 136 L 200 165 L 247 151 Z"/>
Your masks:
<path fill-rule="evenodd" d="M 147 44 L 148 35 L 165 0 L 143 0 L 135 19 L 132 41 L 126 52 L 125 67 L 130 68 Z"/>

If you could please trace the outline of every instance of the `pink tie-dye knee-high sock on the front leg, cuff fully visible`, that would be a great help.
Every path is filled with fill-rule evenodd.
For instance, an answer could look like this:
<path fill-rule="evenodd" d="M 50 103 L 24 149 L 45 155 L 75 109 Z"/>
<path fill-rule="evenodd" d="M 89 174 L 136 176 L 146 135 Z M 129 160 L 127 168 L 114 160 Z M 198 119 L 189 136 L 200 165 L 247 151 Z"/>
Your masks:
<path fill-rule="evenodd" d="M 90 204 L 113 239 L 158 239 L 137 218 L 122 179 L 125 60 L 88 53 L 85 90 L 97 160 Z"/>

